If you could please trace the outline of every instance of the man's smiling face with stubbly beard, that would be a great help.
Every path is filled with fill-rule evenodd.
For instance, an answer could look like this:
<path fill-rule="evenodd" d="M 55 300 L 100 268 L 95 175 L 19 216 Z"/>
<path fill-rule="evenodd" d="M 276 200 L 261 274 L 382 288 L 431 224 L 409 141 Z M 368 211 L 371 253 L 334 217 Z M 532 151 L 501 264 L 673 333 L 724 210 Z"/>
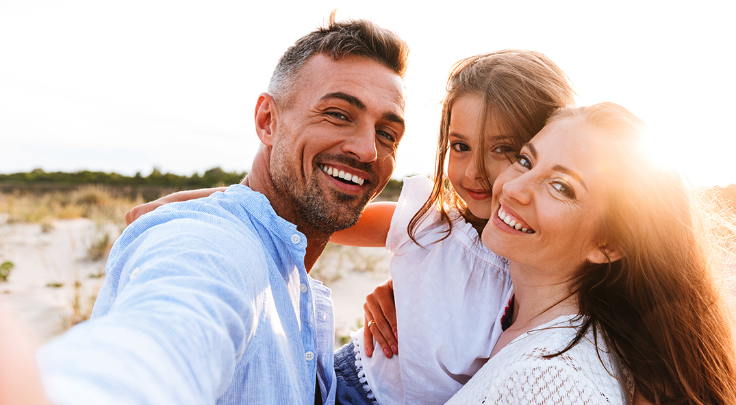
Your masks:
<path fill-rule="evenodd" d="M 277 119 L 270 175 L 297 220 L 333 233 L 358 221 L 394 171 L 403 82 L 364 57 L 318 54 L 296 83 L 290 108 Z"/>

